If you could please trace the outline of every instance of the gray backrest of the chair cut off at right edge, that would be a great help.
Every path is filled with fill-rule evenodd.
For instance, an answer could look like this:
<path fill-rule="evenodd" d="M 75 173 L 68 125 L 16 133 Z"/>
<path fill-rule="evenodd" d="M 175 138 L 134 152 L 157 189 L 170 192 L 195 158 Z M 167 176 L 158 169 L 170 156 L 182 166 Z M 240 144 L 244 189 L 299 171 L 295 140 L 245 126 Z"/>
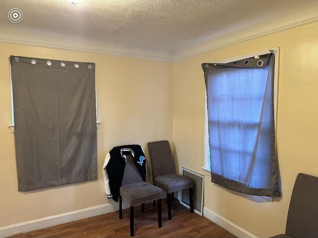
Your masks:
<path fill-rule="evenodd" d="M 318 178 L 298 174 L 288 209 L 286 235 L 318 237 Z"/>

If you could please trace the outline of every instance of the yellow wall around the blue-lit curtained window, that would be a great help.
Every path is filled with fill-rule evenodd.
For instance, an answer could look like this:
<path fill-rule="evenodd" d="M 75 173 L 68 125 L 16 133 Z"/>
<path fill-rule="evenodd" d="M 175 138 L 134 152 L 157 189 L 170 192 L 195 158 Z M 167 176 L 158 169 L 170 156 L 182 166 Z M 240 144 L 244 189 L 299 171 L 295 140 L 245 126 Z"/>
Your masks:
<path fill-rule="evenodd" d="M 203 174 L 203 62 L 280 47 L 277 146 L 282 199 L 267 201 L 224 189 L 205 176 L 204 206 L 257 237 L 285 231 L 298 173 L 318 176 L 318 23 L 261 37 L 174 63 L 173 141 L 179 169 Z"/>

